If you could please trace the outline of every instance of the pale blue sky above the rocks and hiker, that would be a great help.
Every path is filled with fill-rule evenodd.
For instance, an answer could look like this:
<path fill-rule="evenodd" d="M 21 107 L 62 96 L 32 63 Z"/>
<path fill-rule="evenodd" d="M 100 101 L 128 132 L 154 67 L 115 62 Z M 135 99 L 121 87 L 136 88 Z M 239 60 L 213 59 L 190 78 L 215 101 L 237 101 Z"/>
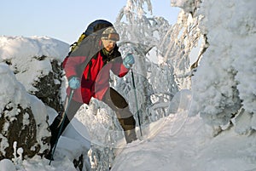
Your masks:
<path fill-rule="evenodd" d="M 151 0 L 153 15 L 174 24 L 180 9 Z M 91 21 L 115 22 L 126 0 L 8 0 L 0 6 L 0 36 L 47 36 L 75 42 Z"/>

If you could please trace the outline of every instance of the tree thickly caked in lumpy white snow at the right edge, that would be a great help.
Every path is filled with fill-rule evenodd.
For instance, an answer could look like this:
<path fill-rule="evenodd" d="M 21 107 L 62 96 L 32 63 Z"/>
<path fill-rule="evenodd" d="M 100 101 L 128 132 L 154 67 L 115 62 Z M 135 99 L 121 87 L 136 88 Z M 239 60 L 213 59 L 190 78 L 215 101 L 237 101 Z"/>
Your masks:
<path fill-rule="evenodd" d="M 192 77 L 190 114 L 200 113 L 206 123 L 223 129 L 234 124 L 239 134 L 255 129 L 255 4 L 211 0 L 201 3 L 200 10 L 207 16 L 200 29 L 209 47 Z"/>

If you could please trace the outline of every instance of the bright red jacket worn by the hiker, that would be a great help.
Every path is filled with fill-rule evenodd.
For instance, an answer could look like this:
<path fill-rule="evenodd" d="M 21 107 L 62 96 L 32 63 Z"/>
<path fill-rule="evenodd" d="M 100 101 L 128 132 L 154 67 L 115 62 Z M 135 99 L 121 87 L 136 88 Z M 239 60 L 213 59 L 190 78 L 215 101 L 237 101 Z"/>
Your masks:
<path fill-rule="evenodd" d="M 100 51 L 95 55 L 95 58 L 90 60 L 91 62 L 85 67 L 82 76 L 79 76 L 78 68 L 81 67 L 86 58 L 85 56 L 66 58 L 63 61 L 63 67 L 68 80 L 75 76 L 79 77 L 81 81 L 81 87 L 74 90 L 73 100 L 89 104 L 91 97 L 102 100 L 109 88 L 110 70 L 119 77 L 124 77 L 129 70 L 123 65 L 121 56 L 110 60 L 107 64 L 104 63 L 103 59 L 107 57 Z M 70 92 L 71 88 L 68 87 L 68 96 Z"/>

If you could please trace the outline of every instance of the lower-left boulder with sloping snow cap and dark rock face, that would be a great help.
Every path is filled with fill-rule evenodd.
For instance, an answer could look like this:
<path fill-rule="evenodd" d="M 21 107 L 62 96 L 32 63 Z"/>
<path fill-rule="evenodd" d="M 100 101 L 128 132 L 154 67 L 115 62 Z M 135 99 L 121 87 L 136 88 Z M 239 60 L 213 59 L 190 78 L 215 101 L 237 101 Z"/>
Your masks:
<path fill-rule="evenodd" d="M 0 158 L 15 158 L 16 148 L 23 157 L 42 155 L 49 149 L 45 105 L 26 93 L 13 71 L 0 64 Z"/>

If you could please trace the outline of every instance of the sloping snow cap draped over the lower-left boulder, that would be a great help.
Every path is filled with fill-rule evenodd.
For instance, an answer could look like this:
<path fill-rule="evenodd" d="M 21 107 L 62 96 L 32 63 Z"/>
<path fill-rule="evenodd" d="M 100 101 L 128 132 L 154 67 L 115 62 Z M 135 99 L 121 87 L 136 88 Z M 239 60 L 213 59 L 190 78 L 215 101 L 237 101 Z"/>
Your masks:
<path fill-rule="evenodd" d="M 7 107 L 12 108 L 16 105 L 20 105 L 23 109 L 26 107 L 31 106 L 32 113 L 34 114 L 34 118 L 36 123 L 43 123 L 38 125 L 38 143 L 43 145 L 41 140 L 42 137 L 49 135 L 47 131 L 48 125 L 45 123 L 46 120 L 46 110 L 45 105 L 41 100 L 38 100 L 35 96 L 28 94 L 24 86 L 17 81 L 15 74 L 13 71 L 9 69 L 9 66 L 6 64 L 0 63 L 0 112 L 3 113 L 3 108 L 5 105 Z M 9 111 L 8 116 L 10 120 L 17 119 L 15 116 L 19 111 Z M 28 115 L 25 115 L 25 117 Z M 24 122 L 23 124 L 26 124 Z M 4 130 L 8 131 L 9 124 L 4 124 Z M 1 134 L 2 136 L 2 134 Z M 4 139 L 1 140 L 1 150 L 7 146 L 11 146 L 8 142 Z M 42 147 L 41 151 L 44 151 Z"/>

